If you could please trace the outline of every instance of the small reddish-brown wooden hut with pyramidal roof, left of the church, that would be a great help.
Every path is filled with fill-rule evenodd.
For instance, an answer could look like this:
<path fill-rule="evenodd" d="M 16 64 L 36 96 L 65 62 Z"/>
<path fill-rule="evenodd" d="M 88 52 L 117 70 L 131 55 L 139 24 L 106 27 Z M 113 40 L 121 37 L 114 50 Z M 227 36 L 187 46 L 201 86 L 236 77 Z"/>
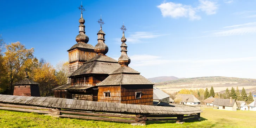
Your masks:
<path fill-rule="evenodd" d="M 38 96 L 40 97 L 39 92 L 39 83 L 28 79 L 27 69 L 25 78 L 19 82 L 14 83 L 14 96 Z"/>

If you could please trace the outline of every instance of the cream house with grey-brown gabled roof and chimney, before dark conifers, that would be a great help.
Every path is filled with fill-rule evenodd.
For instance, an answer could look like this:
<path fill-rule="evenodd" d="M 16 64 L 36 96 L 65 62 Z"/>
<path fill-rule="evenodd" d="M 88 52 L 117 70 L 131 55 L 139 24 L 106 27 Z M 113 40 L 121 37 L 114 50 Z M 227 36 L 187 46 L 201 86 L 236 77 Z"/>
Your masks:
<path fill-rule="evenodd" d="M 219 110 L 228 110 L 228 111 L 236 111 L 237 109 L 237 103 L 235 99 L 219 99 L 215 98 L 214 102 L 214 109 L 219 109 Z"/>

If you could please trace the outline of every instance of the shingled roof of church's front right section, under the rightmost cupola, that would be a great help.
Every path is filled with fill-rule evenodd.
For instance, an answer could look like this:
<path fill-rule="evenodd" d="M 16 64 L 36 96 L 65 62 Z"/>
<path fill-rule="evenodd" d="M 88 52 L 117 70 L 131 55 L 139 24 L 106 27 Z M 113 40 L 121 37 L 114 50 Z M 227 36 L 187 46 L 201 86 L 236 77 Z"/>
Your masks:
<path fill-rule="evenodd" d="M 140 72 L 128 66 L 122 66 L 115 71 L 109 73 L 109 76 L 104 81 L 98 83 L 96 86 L 105 85 L 153 85 L 154 83 L 140 75 Z"/>

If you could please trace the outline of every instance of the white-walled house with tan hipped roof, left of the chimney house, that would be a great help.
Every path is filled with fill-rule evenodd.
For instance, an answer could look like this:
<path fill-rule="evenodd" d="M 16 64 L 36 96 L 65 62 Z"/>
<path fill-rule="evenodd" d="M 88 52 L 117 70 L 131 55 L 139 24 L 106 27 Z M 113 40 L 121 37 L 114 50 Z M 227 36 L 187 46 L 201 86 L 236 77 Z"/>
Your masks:
<path fill-rule="evenodd" d="M 178 94 L 174 101 L 180 101 L 180 104 L 198 105 L 200 101 L 192 94 Z"/>

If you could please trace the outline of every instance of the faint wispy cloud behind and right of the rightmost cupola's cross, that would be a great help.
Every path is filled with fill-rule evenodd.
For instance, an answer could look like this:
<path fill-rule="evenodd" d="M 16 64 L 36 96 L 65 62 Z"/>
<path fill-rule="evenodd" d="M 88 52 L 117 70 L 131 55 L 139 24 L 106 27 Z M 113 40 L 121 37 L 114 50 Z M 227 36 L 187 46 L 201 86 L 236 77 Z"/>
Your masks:
<path fill-rule="evenodd" d="M 127 42 L 131 44 L 137 44 L 137 43 L 148 43 L 147 39 L 153 39 L 160 36 L 165 36 L 168 34 L 161 34 L 161 33 L 153 33 L 153 32 L 134 32 L 133 34 L 130 34 L 126 36 Z M 116 41 L 120 42 L 120 39 L 116 38 Z"/>

